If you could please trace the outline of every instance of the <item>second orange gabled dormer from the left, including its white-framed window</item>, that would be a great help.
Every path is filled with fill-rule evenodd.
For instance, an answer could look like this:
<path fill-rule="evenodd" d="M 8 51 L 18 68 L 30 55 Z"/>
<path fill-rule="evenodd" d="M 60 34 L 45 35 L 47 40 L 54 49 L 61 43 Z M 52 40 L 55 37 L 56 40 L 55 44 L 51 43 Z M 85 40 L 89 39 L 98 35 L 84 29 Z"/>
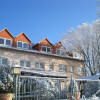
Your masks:
<path fill-rule="evenodd" d="M 25 33 L 19 34 L 15 38 L 15 47 L 20 49 L 30 49 L 31 40 L 25 35 Z"/>

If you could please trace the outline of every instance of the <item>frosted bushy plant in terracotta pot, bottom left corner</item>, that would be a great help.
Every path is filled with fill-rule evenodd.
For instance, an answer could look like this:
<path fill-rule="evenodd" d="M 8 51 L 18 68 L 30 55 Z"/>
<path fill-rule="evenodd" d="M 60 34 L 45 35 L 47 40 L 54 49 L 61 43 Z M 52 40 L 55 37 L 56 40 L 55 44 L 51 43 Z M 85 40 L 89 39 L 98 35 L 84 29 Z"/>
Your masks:
<path fill-rule="evenodd" d="M 0 66 L 0 100 L 12 100 L 13 92 L 14 81 L 10 68 Z"/>

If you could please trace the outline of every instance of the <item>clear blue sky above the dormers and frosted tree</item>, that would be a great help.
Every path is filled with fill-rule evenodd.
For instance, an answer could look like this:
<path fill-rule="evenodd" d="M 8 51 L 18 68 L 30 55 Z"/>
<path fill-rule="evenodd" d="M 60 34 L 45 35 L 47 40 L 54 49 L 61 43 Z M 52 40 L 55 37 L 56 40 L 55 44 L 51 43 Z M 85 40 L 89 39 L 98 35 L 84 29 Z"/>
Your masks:
<path fill-rule="evenodd" d="M 58 42 L 72 27 L 96 19 L 96 0 L 0 0 L 0 30 L 25 32 L 33 43 Z"/>

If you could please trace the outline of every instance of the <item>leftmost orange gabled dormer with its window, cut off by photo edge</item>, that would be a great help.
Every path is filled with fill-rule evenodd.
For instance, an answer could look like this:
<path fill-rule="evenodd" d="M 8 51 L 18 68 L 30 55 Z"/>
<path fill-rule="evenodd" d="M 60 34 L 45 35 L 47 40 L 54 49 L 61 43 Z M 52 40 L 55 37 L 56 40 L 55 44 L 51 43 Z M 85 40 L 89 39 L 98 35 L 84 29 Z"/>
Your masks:
<path fill-rule="evenodd" d="M 8 31 L 8 29 L 3 29 L 0 31 L 0 46 L 12 47 L 14 44 L 14 37 Z"/>

